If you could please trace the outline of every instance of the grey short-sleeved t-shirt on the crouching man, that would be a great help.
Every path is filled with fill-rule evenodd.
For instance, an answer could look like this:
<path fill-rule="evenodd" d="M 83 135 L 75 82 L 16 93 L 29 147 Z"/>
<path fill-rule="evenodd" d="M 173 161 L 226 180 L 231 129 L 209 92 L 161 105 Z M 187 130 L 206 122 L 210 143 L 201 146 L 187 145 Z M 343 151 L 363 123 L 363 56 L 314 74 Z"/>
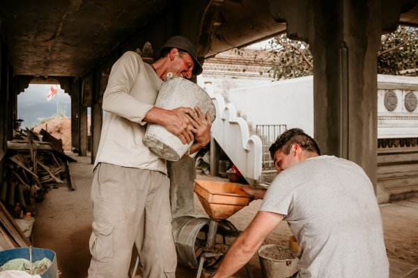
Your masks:
<path fill-rule="evenodd" d="M 299 277 L 389 277 L 379 206 L 359 165 L 335 156 L 297 163 L 277 175 L 260 211 L 286 215 Z"/>

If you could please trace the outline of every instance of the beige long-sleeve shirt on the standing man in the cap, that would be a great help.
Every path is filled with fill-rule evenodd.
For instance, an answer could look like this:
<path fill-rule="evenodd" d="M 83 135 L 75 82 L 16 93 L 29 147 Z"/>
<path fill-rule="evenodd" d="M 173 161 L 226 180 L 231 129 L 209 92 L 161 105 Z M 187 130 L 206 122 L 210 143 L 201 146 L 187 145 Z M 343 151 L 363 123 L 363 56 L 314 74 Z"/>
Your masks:
<path fill-rule="evenodd" d="M 102 134 L 95 164 L 110 163 L 167 174 L 166 161 L 142 143 L 144 117 L 153 108 L 162 80 L 139 54 L 127 51 L 111 68 L 103 96 Z"/>

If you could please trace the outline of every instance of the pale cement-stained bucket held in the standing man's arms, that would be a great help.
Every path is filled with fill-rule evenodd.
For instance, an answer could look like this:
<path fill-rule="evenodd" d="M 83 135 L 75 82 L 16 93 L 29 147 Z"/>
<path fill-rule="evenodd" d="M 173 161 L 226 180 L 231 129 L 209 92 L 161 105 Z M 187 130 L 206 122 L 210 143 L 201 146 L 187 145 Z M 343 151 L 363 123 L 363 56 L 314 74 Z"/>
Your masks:
<path fill-rule="evenodd" d="M 167 78 L 160 88 L 155 106 L 167 110 L 180 106 L 194 108 L 199 106 L 203 115 L 210 112 L 210 120 L 216 117 L 216 108 L 208 93 L 199 85 L 182 77 Z M 148 124 L 143 139 L 144 145 L 167 161 L 178 161 L 192 146 L 193 142 L 183 145 L 180 139 L 160 124 Z"/>

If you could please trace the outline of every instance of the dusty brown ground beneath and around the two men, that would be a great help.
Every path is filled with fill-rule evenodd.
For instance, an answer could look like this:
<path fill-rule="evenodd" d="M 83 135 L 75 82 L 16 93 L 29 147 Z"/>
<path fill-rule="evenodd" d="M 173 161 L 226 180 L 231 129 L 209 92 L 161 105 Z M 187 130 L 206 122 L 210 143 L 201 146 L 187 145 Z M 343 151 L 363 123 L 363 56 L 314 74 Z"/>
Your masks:
<path fill-rule="evenodd" d="M 68 153 L 70 154 L 70 153 Z M 33 227 L 33 244 L 56 252 L 60 278 L 87 277 L 91 255 L 88 239 L 91 234 L 92 208 L 90 188 L 92 165 L 89 156 L 70 154 L 77 163 L 70 163 L 76 190 L 67 186 L 51 190 L 42 203 L 37 204 Z M 198 179 L 219 179 L 198 174 Z M 261 200 L 251 202 L 228 220 L 242 230 L 256 214 Z M 196 214 L 205 215 L 195 198 Z M 418 197 L 380 206 L 385 231 L 385 243 L 391 265 L 390 278 L 418 278 Z M 288 245 L 291 231 L 281 222 L 264 244 Z M 362 252 L 362 250 L 359 250 Z M 250 261 L 254 278 L 261 278 L 260 263 L 255 255 Z M 203 275 L 207 276 L 207 275 Z M 139 277 L 139 276 L 137 276 Z M 196 270 L 178 264 L 176 277 L 196 277 Z M 233 277 L 248 277 L 245 269 Z"/>

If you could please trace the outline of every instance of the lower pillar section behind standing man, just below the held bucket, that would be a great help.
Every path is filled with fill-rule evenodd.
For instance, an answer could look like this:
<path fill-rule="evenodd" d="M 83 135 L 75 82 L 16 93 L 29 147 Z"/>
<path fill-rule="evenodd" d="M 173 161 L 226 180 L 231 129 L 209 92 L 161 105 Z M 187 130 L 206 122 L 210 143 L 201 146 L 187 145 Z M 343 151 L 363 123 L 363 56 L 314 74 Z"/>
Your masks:
<path fill-rule="evenodd" d="M 194 213 L 194 158 L 183 156 L 180 161 L 167 161 L 170 178 L 170 204 L 173 217 Z"/>

